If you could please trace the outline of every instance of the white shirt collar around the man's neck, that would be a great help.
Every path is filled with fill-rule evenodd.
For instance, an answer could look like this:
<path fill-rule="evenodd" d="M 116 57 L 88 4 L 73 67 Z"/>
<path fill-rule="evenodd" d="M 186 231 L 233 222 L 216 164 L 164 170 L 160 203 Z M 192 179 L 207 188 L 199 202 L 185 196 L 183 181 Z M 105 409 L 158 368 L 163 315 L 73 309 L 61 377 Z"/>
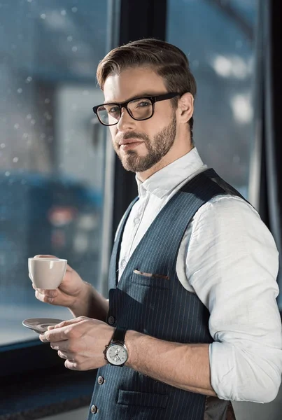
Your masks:
<path fill-rule="evenodd" d="M 199 157 L 197 148 L 192 148 L 190 152 L 181 158 L 174 160 L 166 167 L 155 172 L 146 181 L 140 181 L 135 177 L 138 187 L 139 197 L 144 197 L 147 191 L 159 198 L 164 198 L 185 179 L 192 178 L 192 175 L 204 166 Z"/>

